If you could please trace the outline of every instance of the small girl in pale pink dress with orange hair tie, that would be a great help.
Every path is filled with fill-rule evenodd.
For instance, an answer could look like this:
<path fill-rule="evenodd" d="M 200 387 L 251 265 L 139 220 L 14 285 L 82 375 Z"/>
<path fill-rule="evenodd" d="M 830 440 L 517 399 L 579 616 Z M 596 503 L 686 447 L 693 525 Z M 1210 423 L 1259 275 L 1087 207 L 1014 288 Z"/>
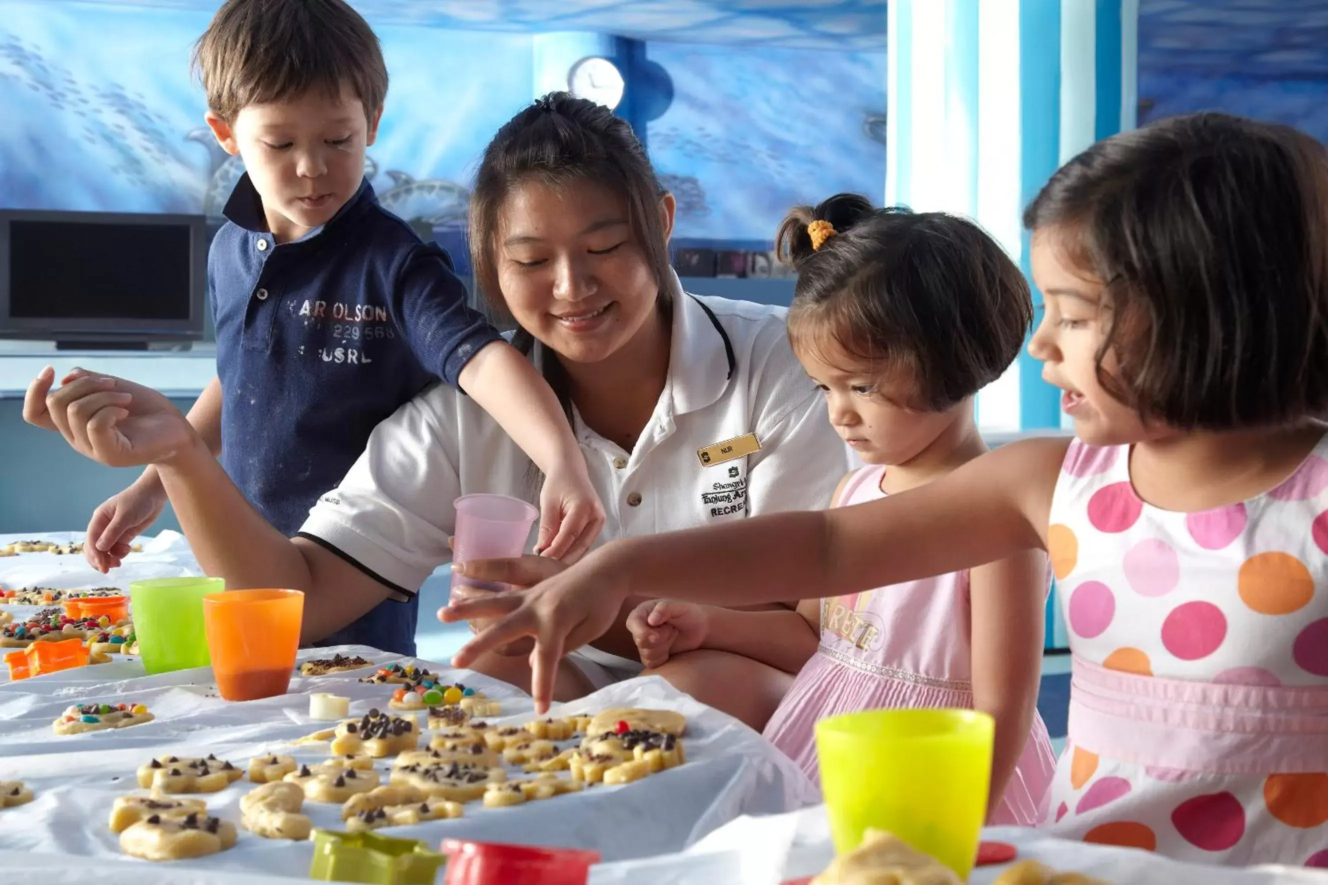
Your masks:
<path fill-rule="evenodd" d="M 872 208 L 851 195 L 797 210 L 778 241 L 798 271 L 794 352 L 825 391 L 830 423 L 867 462 L 843 478 L 831 506 L 923 486 L 987 451 L 973 397 L 1013 361 L 1032 318 L 1028 284 L 1000 245 L 971 222 Z M 803 634 L 818 634 L 765 727 L 813 780 L 813 727 L 823 716 L 880 707 L 989 713 L 991 820 L 1032 825 L 1056 767 L 1036 709 L 1049 580 L 1045 556 L 1024 552 L 809 600 L 797 613 L 656 600 L 628 628 L 653 667 L 692 649 L 741 650 L 778 666 L 789 649 L 806 647 Z"/>

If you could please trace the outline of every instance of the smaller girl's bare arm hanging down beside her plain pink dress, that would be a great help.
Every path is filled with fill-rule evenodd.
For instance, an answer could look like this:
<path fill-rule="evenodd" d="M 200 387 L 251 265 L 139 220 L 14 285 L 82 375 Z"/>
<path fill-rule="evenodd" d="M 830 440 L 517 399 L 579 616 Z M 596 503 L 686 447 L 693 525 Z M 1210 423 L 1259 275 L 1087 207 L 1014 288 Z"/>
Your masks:
<path fill-rule="evenodd" d="M 972 569 L 973 709 L 996 720 L 988 813 L 1028 743 L 1042 665 L 1046 557 L 1025 551 Z"/>

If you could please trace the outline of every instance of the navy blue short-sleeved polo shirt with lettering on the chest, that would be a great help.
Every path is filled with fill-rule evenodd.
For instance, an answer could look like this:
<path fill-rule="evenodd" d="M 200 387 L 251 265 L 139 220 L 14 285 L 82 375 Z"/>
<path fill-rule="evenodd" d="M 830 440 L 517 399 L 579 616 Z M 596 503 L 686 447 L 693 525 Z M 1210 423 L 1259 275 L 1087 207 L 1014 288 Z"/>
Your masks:
<path fill-rule="evenodd" d="M 248 175 L 224 212 L 207 260 L 222 466 L 291 536 L 380 421 L 436 378 L 456 386 L 501 337 L 466 304 L 448 253 L 378 206 L 368 180 L 327 224 L 280 245 Z M 417 609 L 413 594 L 384 601 L 323 645 L 414 654 Z"/>

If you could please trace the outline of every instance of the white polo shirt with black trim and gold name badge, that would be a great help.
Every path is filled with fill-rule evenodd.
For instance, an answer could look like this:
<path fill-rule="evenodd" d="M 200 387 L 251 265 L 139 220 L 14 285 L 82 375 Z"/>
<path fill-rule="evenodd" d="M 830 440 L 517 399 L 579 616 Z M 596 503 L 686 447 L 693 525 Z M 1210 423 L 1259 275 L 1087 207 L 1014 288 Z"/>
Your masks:
<path fill-rule="evenodd" d="M 786 310 L 685 295 L 676 276 L 671 283 L 668 379 L 636 447 L 624 451 L 574 415 L 607 515 L 598 544 L 826 507 L 855 458 L 793 356 Z M 699 450 L 748 434 L 758 451 L 703 463 Z M 538 475 L 474 401 L 437 385 L 377 426 L 300 535 L 335 548 L 408 600 L 450 561 L 453 500 L 475 492 L 538 506 Z"/>

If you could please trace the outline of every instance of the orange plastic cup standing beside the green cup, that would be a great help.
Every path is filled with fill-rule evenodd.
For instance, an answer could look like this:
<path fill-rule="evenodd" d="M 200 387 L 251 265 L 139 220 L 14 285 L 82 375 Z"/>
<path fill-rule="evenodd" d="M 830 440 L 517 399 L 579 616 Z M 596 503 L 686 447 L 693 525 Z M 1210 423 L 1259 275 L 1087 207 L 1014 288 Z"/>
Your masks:
<path fill-rule="evenodd" d="M 227 701 L 286 694 L 300 647 L 304 593 L 227 590 L 203 597 L 216 689 Z"/>

